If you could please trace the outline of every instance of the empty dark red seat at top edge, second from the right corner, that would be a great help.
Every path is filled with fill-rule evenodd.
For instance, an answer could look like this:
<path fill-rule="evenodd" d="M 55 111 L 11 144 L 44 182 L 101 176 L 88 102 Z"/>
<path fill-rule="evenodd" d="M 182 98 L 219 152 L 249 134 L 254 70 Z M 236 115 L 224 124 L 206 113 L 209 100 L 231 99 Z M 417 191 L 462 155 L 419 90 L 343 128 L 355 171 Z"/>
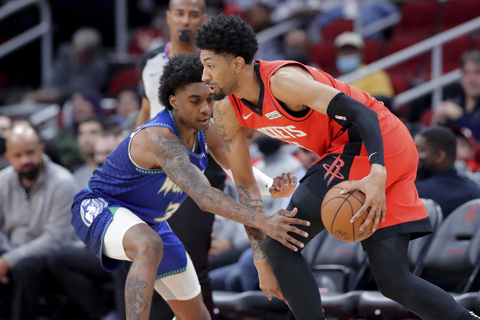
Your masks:
<path fill-rule="evenodd" d="M 433 33 L 438 13 L 438 1 L 405 1 L 401 7 L 400 22 L 395 29 L 395 37 L 415 34 L 427 37 Z"/>

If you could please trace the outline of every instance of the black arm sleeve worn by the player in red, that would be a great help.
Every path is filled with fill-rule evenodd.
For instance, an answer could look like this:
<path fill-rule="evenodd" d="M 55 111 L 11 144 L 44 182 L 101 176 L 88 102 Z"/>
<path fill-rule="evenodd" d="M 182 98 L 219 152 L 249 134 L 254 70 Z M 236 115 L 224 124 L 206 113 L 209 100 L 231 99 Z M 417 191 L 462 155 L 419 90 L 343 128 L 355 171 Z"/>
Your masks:
<path fill-rule="evenodd" d="M 364 104 L 349 97 L 343 92 L 335 95 L 328 107 L 326 114 L 332 118 L 344 117 L 346 121 L 355 123 L 363 144 L 369 154 L 370 164 L 385 165 L 383 159 L 383 139 L 381 137 L 378 115 Z"/>

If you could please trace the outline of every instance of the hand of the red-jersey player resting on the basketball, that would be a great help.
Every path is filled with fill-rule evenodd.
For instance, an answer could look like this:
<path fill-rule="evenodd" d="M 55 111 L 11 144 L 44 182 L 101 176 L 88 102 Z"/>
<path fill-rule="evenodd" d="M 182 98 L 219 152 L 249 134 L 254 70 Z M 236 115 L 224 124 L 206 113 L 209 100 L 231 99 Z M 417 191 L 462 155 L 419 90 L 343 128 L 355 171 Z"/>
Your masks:
<path fill-rule="evenodd" d="M 350 222 L 353 223 L 356 219 L 362 216 L 365 211 L 368 211 L 365 221 L 360 225 L 360 231 L 364 230 L 370 221 L 373 220 L 371 230 L 374 232 L 378 228 L 380 221 L 385 220 L 385 181 L 385 167 L 381 164 L 373 163 L 371 165 L 370 174 L 363 179 L 348 185 L 340 192 L 341 194 L 345 194 L 354 189 L 358 189 L 365 193 L 365 202 L 363 203 L 363 206 L 350 220 Z"/>

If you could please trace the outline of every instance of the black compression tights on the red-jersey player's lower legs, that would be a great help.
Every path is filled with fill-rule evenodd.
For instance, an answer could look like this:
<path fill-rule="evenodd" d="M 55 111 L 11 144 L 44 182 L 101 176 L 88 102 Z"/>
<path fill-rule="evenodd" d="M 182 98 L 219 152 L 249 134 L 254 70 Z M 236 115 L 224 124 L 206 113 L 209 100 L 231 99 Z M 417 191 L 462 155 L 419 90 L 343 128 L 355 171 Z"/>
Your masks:
<path fill-rule="evenodd" d="M 310 238 L 322 229 L 322 224 L 308 218 L 312 226 L 305 230 L 310 232 Z M 408 239 L 409 234 L 396 235 L 365 248 L 380 292 L 423 320 L 478 320 L 447 292 L 411 274 L 406 254 Z M 303 242 L 307 241 L 303 238 Z M 296 320 L 324 320 L 318 287 L 303 256 L 269 237 L 264 250 Z"/>

